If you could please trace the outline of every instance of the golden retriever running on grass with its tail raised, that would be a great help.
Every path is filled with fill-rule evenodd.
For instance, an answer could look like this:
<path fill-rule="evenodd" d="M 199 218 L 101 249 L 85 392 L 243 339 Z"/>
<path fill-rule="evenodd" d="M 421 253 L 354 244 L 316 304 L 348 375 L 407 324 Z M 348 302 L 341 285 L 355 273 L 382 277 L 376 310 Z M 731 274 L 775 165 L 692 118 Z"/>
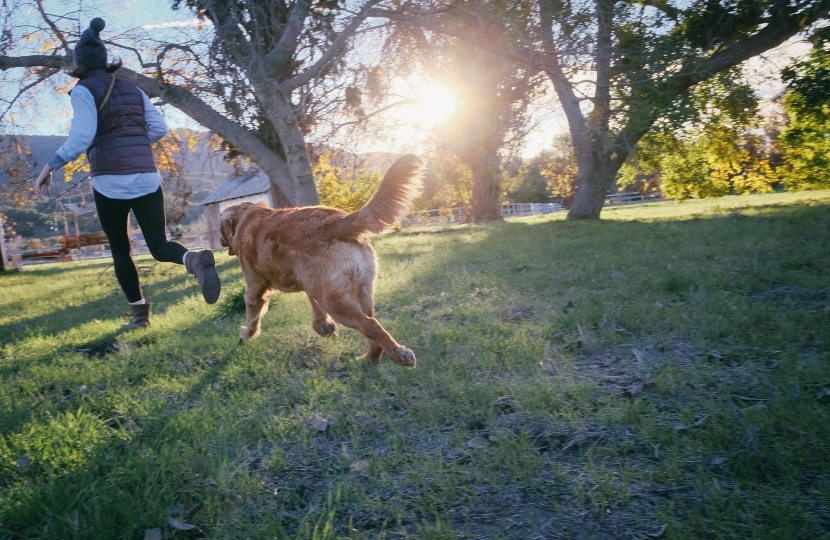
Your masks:
<path fill-rule="evenodd" d="M 401 156 L 366 206 L 351 214 L 327 206 L 226 208 L 219 216 L 221 244 L 239 257 L 245 278 L 247 325 L 239 327 L 239 337 L 259 335 L 269 292 L 305 291 L 315 332 L 335 335 L 335 323 L 354 328 L 369 339 L 364 358 L 386 353 L 396 364 L 415 367 L 415 354 L 374 317 L 377 257 L 368 233 L 406 215 L 421 191 L 422 167 L 417 156 Z"/>

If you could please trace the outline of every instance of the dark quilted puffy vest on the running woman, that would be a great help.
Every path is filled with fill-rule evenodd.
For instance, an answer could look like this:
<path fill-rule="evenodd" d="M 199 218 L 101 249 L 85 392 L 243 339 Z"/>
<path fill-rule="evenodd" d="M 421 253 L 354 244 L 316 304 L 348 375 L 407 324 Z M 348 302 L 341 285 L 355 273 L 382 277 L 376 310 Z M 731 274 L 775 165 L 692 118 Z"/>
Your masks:
<path fill-rule="evenodd" d="M 112 75 L 95 69 L 78 82 L 101 106 Z M 92 175 L 156 172 L 153 148 L 144 121 L 144 97 L 136 85 L 116 79 L 112 94 L 98 111 L 98 131 L 86 151 Z"/>

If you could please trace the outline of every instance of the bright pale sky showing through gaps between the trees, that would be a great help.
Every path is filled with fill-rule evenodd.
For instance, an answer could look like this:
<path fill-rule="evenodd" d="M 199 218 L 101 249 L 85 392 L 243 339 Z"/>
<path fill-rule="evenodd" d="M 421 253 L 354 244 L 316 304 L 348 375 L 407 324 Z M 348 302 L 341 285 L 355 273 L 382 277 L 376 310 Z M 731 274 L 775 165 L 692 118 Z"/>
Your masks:
<path fill-rule="evenodd" d="M 77 0 L 46 0 L 47 12 L 63 13 L 69 9 L 76 8 Z M 107 27 L 102 35 L 105 39 L 117 41 L 118 34 L 132 29 L 141 28 L 152 33 L 156 39 L 165 37 L 174 38 L 182 32 L 194 32 L 195 20 L 192 13 L 187 9 L 174 11 L 170 7 L 169 0 L 114 0 L 110 2 L 84 1 L 80 3 L 80 14 L 78 18 L 85 29 L 93 17 L 102 17 Z M 15 13 L 13 16 L 35 24 L 40 21 L 40 15 L 34 7 L 25 13 Z M 746 72 L 754 86 L 760 90 L 762 98 L 767 101 L 763 104 L 762 110 L 771 112 L 774 106 L 770 99 L 780 94 L 783 85 L 777 74 L 790 59 L 798 58 L 809 51 L 809 46 L 799 43 L 798 40 L 791 40 L 776 50 L 769 51 L 760 58 L 755 58 L 747 63 Z M 118 52 L 109 48 L 110 58 L 121 56 L 124 60 L 131 60 L 131 53 Z M 440 122 L 442 115 L 451 111 L 453 96 L 448 89 L 436 84 L 415 83 L 411 81 L 398 81 L 395 83 L 396 93 L 415 98 L 418 101 L 415 105 L 402 107 L 389 113 L 392 123 L 400 123 L 405 127 L 395 129 L 393 133 L 383 137 L 381 140 L 365 139 L 352 142 L 356 151 L 385 151 L 401 152 L 409 151 L 417 147 L 426 138 L 429 129 Z M 4 97 L 9 89 L 0 89 Z M 26 100 L 23 100 L 24 102 Z M 65 93 L 38 93 L 31 95 L 29 101 L 35 106 L 21 109 L 15 112 L 16 119 L 20 126 L 29 134 L 38 135 L 65 135 L 69 130 L 71 112 L 69 111 L 69 96 Z M 201 129 L 198 124 L 190 120 L 186 115 L 180 113 L 170 106 L 161 107 L 171 128 Z M 561 109 L 549 103 L 532 105 L 529 110 L 530 125 L 533 126 L 528 132 L 522 155 L 525 157 L 538 154 L 540 151 L 550 148 L 553 139 L 560 133 L 567 131 L 567 124 Z"/>

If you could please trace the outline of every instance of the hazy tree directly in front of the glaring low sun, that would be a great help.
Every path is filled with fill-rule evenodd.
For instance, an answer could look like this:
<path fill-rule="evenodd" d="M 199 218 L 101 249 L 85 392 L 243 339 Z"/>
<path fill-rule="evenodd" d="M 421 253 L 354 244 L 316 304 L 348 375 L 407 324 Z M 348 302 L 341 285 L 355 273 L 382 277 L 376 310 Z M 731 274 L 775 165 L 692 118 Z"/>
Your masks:
<path fill-rule="evenodd" d="M 438 152 L 469 168 L 475 222 L 501 219 L 503 154 L 521 137 L 526 105 L 538 86 L 530 62 L 503 54 L 515 49 L 530 27 L 531 5 L 529 0 L 448 0 L 374 10 L 406 30 L 392 40 L 399 56 L 411 61 L 415 53 L 424 71 L 456 96 L 453 114 L 435 131 L 435 143 Z"/>

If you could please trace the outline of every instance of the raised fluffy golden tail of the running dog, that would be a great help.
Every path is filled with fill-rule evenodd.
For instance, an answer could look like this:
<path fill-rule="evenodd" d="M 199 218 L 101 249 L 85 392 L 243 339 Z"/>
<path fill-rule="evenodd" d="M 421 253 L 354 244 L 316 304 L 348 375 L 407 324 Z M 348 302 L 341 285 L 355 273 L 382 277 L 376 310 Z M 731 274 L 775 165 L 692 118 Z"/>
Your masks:
<path fill-rule="evenodd" d="M 423 188 L 423 165 L 421 158 L 413 154 L 396 159 L 366 206 L 339 220 L 333 235 L 350 240 L 367 232 L 379 233 L 406 216 Z"/>

